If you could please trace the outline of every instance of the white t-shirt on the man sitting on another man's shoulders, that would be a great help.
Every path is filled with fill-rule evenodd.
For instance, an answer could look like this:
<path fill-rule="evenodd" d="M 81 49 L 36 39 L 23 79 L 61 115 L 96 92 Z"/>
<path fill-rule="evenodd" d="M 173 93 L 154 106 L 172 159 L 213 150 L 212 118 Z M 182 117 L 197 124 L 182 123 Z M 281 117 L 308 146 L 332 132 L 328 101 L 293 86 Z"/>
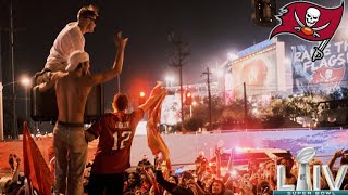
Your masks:
<path fill-rule="evenodd" d="M 69 56 L 76 50 L 85 51 L 85 37 L 77 22 L 69 23 L 55 38 L 45 68 L 65 72 Z"/>

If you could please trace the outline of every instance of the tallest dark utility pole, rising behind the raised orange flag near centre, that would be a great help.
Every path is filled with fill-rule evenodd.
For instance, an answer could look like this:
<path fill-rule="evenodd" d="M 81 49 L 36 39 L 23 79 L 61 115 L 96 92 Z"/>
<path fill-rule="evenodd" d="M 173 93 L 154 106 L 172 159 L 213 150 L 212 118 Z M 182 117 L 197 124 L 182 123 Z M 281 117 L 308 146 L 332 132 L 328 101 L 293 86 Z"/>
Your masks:
<path fill-rule="evenodd" d="M 182 130 L 184 130 L 184 90 L 183 90 L 183 62 L 190 55 L 188 44 L 182 41 L 181 36 L 175 36 L 174 31 L 167 35 L 167 41 L 174 44 L 173 58 L 170 66 L 178 68 L 179 84 L 181 84 L 181 118 L 182 118 Z"/>

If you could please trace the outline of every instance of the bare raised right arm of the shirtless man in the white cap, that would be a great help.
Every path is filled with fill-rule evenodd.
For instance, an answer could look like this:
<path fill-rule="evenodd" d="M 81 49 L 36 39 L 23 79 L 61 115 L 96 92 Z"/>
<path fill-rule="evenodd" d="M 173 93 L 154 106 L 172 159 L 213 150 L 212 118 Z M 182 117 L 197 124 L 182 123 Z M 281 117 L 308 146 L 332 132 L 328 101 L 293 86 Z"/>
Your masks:
<path fill-rule="evenodd" d="M 128 38 L 122 38 L 122 31 L 119 31 L 115 36 L 115 44 L 117 47 L 117 51 L 115 54 L 115 60 L 113 62 L 113 66 L 111 69 L 108 69 L 103 73 L 91 75 L 87 78 L 87 82 L 90 86 L 99 84 L 102 82 L 107 82 L 108 80 L 114 78 L 120 75 L 123 67 L 123 58 L 124 58 L 124 49 L 127 44 Z"/>

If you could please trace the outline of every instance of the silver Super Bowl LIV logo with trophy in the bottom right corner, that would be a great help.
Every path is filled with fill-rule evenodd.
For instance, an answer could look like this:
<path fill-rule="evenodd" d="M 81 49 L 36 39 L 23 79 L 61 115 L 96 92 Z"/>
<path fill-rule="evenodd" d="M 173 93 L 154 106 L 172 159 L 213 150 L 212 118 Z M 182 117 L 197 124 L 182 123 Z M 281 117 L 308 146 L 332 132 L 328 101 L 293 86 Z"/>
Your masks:
<path fill-rule="evenodd" d="M 309 162 L 314 158 L 315 150 L 313 147 L 304 147 L 297 153 L 296 160 L 298 165 L 298 178 L 296 191 L 303 191 L 302 193 L 295 191 L 295 185 L 286 185 L 285 184 L 285 167 L 283 165 L 277 166 L 277 191 L 274 191 L 274 194 L 322 194 L 321 191 L 321 170 L 324 174 L 324 178 L 327 182 L 330 191 L 325 191 L 325 195 L 327 194 L 348 194 L 347 191 L 339 191 L 345 176 L 347 173 L 348 165 L 343 165 L 339 167 L 337 176 L 334 180 L 333 174 L 330 170 L 328 165 L 314 165 L 313 166 L 313 183 L 311 181 L 311 173 Z"/>

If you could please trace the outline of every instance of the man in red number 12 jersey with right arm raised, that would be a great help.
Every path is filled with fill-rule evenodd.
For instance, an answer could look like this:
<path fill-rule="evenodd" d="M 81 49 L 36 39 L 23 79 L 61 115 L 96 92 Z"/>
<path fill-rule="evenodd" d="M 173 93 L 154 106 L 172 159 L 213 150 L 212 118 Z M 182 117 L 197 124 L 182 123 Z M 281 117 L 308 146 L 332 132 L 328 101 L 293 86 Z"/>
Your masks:
<path fill-rule="evenodd" d="M 89 195 L 103 194 L 104 191 L 107 194 L 123 194 L 124 172 L 130 167 L 130 146 L 136 127 L 145 112 L 165 94 L 166 89 L 161 83 L 157 84 L 146 103 L 128 114 L 127 96 L 117 93 L 112 103 L 114 113 L 104 114 L 85 131 L 88 141 L 99 138 L 88 183 Z"/>

